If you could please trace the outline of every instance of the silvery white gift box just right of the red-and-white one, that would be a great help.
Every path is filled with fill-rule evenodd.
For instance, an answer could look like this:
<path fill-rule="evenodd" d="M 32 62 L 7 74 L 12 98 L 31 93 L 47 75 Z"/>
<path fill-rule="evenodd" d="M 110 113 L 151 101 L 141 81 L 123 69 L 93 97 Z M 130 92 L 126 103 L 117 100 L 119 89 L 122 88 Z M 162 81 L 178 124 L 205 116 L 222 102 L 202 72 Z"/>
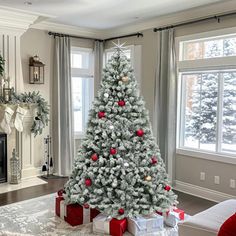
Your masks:
<path fill-rule="evenodd" d="M 128 219 L 128 231 L 135 236 L 154 236 L 163 227 L 163 216 L 158 214 Z"/>

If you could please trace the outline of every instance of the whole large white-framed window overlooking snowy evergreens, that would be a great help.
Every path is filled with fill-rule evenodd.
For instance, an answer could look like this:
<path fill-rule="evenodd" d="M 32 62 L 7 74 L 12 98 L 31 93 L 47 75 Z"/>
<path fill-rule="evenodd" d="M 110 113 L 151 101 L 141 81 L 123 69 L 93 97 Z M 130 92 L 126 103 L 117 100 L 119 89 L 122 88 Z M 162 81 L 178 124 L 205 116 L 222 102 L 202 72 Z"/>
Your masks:
<path fill-rule="evenodd" d="M 177 43 L 178 148 L 235 155 L 236 33 Z"/>

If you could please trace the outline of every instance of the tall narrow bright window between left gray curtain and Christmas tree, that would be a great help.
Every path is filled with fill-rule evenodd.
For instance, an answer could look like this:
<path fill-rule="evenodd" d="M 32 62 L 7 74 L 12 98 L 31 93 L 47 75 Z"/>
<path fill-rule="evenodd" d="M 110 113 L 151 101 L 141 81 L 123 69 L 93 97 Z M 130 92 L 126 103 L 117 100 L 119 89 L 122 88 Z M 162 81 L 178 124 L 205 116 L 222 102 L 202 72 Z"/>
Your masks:
<path fill-rule="evenodd" d="M 72 101 L 75 137 L 84 135 L 88 113 L 94 97 L 92 49 L 72 47 Z"/>

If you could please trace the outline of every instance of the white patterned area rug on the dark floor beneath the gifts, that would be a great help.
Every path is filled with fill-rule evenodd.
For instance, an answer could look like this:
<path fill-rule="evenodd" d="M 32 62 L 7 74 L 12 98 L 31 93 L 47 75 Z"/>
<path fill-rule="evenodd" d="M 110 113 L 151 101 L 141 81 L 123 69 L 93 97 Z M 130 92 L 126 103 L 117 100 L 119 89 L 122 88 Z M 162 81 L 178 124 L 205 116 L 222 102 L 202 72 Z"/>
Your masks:
<path fill-rule="evenodd" d="M 55 216 L 55 194 L 0 207 L 1 236 L 95 236 L 92 224 L 72 227 Z M 166 228 L 155 236 L 178 236 L 176 228 Z M 128 232 L 124 236 L 130 236 Z"/>

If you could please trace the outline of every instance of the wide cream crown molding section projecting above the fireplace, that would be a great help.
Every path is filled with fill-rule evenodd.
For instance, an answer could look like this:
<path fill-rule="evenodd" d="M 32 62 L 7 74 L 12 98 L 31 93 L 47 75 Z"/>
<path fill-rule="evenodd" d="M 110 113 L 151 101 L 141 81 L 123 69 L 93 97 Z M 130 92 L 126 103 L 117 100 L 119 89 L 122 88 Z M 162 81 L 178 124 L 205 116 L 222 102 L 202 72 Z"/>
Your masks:
<path fill-rule="evenodd" d="M 0 30 L 11 34 L 22 34 L 37 18 L 37 14 L 29 14 L 12 8 L 0 7 Z"/>

